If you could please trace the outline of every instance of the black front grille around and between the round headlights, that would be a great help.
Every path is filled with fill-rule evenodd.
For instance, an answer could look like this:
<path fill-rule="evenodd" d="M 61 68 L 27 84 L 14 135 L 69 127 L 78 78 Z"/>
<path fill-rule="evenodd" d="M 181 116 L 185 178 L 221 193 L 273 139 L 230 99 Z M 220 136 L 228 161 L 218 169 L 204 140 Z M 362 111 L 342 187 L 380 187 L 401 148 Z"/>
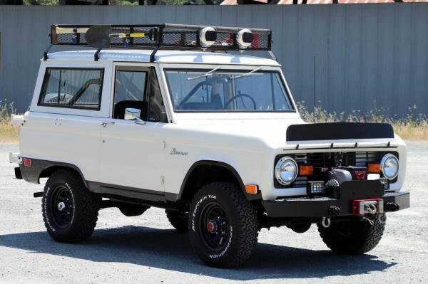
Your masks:
<path fill-rule="evenodd" d="M 297 164 L 308 164 L 314 167 L 314 174 L 310 177 L 297 177 L 295 182 L 288 186 L 279 184 L 275 177 L 276 188 L 290 188 L 290 187 L 305 187 L 309 181 L 327 181 L 327 172 L 333 167 L 348 167 L 359 166 L 367 167 L 368 163 L 379 163 L 382 157 L 392 153 L 398 157 L 397 152 L 325 152 L 325 153 L 307 153 L 307 154 L 285 154 L 277 156 L 275 164 L 278 159 L 284 156 L 292 157 L 296 160 Z"/>

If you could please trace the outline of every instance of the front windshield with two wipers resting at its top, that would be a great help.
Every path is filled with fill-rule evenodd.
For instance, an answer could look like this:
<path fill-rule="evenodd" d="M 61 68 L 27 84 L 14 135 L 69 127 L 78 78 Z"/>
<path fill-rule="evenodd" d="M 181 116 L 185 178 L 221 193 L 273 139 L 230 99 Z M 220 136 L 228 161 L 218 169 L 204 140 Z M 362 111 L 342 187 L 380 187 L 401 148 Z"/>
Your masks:
<path fill-rule="evenodd" d="M 277 71 L 165 70 L 175 112 L 294 111 Z"/>

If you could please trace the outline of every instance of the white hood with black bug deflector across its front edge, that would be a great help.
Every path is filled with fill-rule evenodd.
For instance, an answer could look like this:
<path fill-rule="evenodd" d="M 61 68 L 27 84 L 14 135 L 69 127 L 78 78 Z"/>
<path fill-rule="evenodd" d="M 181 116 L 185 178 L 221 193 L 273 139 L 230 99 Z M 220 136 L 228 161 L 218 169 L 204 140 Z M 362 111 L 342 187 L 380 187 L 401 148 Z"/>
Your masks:
<path fill-rule="evenodd" d="M 377 123 L 334 122 L 306 123 L 299 119 L 268 120 L 185 120 L 180 128 L 234 138 L 261 142 L 271 149 L 300 147 L 354 147 L 355 143 L 380 143 L 387 146 L 394 142 L 391 125 Z M 184 130 L 183 129 L 183 130 Z M 288 135 L 288 137 L 287 137 Z M 245 145 L 242 145 L 245 147 Z M 249 146 L 249 145 L 248 145 Z"/>

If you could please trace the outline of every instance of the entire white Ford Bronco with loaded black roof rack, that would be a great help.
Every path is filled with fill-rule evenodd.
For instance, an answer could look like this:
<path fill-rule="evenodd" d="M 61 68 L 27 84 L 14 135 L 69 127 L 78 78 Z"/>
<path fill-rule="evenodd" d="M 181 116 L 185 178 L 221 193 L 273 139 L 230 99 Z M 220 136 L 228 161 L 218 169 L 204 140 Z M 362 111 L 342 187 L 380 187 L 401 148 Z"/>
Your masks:
<path fill-rule="evenodd" d="M 76 243 L 98 211 L 165 209 L 208 265 L 250 257 L 261 228 L 316 224 L 336 253 L 379 243 L 400 191 L 406 145 L 391 125 L 302 121 L 271 31 L 210 26 L 51 26 L 19 153 L 18 179 L 48 178 L 47 231 Z"/>

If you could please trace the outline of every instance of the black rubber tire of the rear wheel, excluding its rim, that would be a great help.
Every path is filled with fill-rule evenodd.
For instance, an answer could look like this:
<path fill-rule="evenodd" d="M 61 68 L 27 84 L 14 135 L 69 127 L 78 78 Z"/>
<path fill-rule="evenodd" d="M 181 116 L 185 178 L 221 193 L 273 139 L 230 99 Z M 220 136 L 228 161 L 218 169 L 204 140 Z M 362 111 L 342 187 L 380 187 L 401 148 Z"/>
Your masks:
<path fill-rule="evenodd" d="M 73 199 L 73 214 L 65 228 L 54 221 L 52 204 L 58 186 L 68 189 Z M 78 243 L 86 240 L 93 233 L 98 220 L 101 198 L 86 189 L 79 174 L 68 170 L 58 170 L 51 174 L 44 187 L 41 211 L 46 229 L 55 241 Z"/>

